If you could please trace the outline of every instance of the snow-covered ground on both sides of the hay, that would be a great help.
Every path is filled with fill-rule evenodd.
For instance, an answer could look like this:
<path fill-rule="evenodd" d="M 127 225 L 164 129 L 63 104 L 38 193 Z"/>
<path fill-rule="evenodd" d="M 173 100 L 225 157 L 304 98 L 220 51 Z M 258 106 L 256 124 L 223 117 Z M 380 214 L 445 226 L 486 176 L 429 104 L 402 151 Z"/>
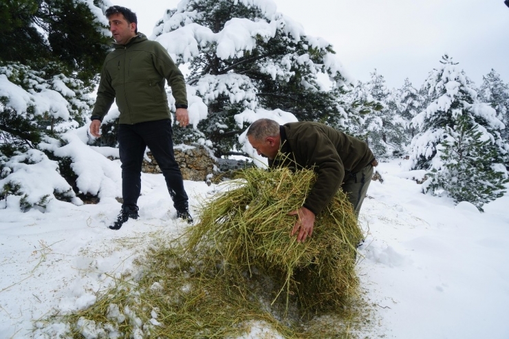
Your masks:
<path fill-rule="evenodd" d="M 454 206 L 420 193 L 412 177 L 422 173 L 405 172 L 405 161 L 378 166 L 383 182 L 371 183 L 360 214 L 369 234 L 358 274 L 377 319 L 366 336 L 509 338 L 509 196 L 484 213 Z M 214 189 L 184 184 L 191 205 Z M 91 305 L 112 277 L 136 274 L 133 261 L 154 237 L 186 226 L 162 175 L 142 175 L 139 206 L 140 219 L 113 231 L 120 204 L 111 197 L 51 201 L 44 213 L 0 201 L 0 338 L 32 338 L 35 320 Z"/>

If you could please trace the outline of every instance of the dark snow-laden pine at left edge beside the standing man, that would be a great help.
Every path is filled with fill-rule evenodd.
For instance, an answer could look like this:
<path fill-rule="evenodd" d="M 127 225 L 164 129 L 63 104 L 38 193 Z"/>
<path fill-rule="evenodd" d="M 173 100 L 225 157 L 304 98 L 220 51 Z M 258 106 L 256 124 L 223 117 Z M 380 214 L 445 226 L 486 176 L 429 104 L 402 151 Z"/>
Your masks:
<path fill-rule="evenodd" d="M 70 162 L 45 142 L 62 143 L 60 133 L 89 116 L 88 94 L 109 49 L 104 9 L 102 0 L 0 3 L 0 198 L 19 195 L 22 208 L 76 201 L 63 177 L 72 175 Z M 50 171 L 52 183 L 21 182 L 18 171 Z"/>

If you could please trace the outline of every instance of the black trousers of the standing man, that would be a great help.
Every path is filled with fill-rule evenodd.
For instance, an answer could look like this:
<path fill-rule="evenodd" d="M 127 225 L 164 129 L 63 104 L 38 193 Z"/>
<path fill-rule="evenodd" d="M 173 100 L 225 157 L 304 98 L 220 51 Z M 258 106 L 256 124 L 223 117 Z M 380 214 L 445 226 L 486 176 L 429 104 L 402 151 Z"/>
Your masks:
<path fill-rule="evenodd" d="M 142 161 L 149 147 L 161 168 L 173 206 L 183 210 L 188 206 L 188 197 L 180 167 L 173 154 L 173 131 L 169 119 L 118 125 L 118 148 L 122 162 L 122 207 L 137 206 L 141 191 Z"/>

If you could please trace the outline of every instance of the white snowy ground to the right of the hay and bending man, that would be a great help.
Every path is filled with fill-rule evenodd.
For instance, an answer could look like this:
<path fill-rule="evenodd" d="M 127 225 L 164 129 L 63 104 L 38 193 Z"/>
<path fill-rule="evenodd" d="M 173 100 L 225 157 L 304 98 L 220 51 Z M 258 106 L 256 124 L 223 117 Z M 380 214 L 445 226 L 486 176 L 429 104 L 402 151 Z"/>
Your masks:
<path fill-rule="evenodd" d="M 396 161 L 378 171 L 384 182 L 371 184 L 373 199 L 361 211 L 371 240 L 359 271 L 388 336 L 508 338 L 502 313 L 509 296 L 503 268 L 509 217 L 499 209 L 508 197 L 481 214 L 468 203 L 454 207 L 420 194 L 420 185 L 394 175 Z"/>

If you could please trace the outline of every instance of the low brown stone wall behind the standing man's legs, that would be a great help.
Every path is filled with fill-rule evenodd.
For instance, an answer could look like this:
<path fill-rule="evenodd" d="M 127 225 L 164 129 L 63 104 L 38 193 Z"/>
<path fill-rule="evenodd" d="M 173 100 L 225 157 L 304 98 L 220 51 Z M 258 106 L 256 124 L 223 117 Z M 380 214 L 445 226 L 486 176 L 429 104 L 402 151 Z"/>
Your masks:
<path fill-rule="evenodd" d="M 174 149 L 175 160 L 180 165 L 180 171 L 184 180 L 195 182 L 210 182 L 210 177 L 217 171 L 217 161 L 210 151 L 204 146 L 177 146 Z M 147 152 L 149 161 L 143 160 L 142 172 L 161 173 L 158 163 Z"/>

